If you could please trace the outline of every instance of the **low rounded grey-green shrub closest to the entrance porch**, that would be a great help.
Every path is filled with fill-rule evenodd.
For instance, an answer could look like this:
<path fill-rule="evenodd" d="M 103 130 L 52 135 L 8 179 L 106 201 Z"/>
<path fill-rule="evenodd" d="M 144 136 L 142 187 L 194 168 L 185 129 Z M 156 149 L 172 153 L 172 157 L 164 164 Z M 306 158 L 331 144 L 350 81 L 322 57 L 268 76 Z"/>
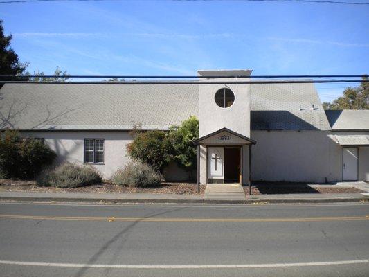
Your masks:
<path fill-rule="evenodd" d="M 161 175 L 145 163 L 127 163 L 118 169 L 111 177 L 113 184 L 130 187 L 154 187 L 159 186 Z"/>

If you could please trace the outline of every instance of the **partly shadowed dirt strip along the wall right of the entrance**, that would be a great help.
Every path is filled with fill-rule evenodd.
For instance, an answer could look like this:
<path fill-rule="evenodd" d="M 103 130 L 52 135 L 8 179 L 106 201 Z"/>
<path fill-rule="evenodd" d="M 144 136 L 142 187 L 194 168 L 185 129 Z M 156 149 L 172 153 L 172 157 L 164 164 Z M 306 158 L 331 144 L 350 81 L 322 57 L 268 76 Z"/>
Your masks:
<path fill-rule="evenodd" d="M 244 186 L 244 193 L 249 195 L 249 187 Z M 290 194 L 290 193 L 363 193 L 359 188 L 343 188 L 343 187 L 319 187 L 312 188 L 307 184 L 253 184 L 251 193 L 253 195 L 276 195 L 276 194 Z"/>

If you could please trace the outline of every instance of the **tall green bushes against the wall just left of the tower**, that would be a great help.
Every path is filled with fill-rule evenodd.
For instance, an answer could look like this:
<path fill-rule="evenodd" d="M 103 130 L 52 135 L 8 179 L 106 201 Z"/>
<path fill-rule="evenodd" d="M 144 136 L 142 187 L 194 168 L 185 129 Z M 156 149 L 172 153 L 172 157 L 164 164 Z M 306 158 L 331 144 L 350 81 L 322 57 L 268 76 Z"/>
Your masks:
<path fill-rule="evenodd" d="M 180 126 L 170 127 L 169 132 L 154 130 L 134 131 L 134 141 L 127 145 L 127 153 L 134 161 L 152 166 L 163 173 L 172 161 L 189 172 L 197 166 L 195 139 L 199 137 L 199 120 L 190 116 Z"/>

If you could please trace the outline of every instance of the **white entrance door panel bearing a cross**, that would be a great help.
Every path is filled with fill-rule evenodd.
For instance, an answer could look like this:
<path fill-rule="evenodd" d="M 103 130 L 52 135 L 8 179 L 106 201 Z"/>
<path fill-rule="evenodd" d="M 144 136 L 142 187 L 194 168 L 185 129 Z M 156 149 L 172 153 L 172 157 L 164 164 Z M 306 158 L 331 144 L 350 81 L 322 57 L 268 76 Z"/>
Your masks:
<path fill-rule="evenodd" d="M 224 180 L 224 148 L 222 147 L 208 148 L 208 178 Z"/>

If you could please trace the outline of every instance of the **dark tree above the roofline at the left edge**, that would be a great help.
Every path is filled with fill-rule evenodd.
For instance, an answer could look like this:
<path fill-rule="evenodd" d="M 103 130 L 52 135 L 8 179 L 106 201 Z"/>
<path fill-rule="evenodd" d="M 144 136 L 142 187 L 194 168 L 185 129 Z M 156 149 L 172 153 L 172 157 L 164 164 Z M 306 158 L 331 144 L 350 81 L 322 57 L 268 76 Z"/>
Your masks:
<path fill-rule="evenodd" d="M 0 75 L 22 75 L 28 63 L 19 62 L 17 53 L 10 47 L 12 35 L 4 35 L 3 20 L 0 19 Z"/>

